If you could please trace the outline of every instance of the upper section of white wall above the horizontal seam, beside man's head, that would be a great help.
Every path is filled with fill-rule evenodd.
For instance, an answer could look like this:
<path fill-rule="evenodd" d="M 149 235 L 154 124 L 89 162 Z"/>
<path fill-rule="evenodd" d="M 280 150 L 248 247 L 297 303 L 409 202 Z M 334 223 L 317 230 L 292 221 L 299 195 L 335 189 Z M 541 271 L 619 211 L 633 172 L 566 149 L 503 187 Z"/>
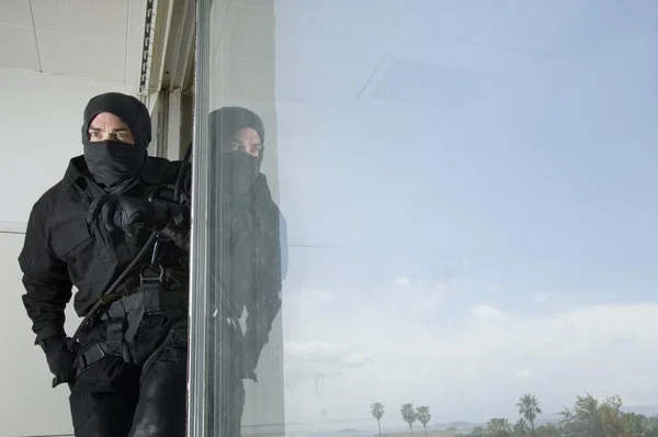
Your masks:
<path fill-rule="evenodd" d="M 0 69 L 0 222 L 25 223 L 36 199 L 82 153 L 80 127 L 89 99 L 131 87 Z"/>

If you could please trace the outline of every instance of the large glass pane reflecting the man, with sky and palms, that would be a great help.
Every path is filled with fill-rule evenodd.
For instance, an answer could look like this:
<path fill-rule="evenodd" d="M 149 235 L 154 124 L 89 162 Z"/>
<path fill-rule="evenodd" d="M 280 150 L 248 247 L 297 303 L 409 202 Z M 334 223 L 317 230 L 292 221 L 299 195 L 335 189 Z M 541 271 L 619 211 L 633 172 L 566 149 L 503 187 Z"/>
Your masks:
<path fill-rule="evenodd" d="M 654 435 L 658 3 L 198 8 L 198 429 Z"/>

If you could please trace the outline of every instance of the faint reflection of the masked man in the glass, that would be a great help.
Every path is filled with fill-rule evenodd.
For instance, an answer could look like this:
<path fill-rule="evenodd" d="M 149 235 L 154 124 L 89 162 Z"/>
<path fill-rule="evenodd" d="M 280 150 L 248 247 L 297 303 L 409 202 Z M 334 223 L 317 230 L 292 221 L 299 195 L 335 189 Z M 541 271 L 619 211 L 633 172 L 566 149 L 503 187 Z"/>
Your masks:
<path fill-rule="evenodd" d="M 222 108 L 211 113 L 209 127 L 211 287 L 215 309 L 224 311 L 211 335 L 220 355 L 211 397 L 223 400 L 222 410 L 214 410 L 224 418 L 223 432 L 237 436 L 242 380 L 257 381 L 254 370 L 281 307 L 281 218 L 260 171 L 262 120 L 243 108 Z"/>

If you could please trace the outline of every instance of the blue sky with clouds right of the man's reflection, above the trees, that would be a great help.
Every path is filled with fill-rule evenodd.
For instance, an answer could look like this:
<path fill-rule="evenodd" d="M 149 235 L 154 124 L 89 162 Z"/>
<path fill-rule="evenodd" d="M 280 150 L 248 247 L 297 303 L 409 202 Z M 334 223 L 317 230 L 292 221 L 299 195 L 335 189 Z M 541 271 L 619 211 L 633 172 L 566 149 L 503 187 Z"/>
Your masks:
<path fill-rule="evenodd" d="M 586 391 L 658 405 L 658 4 L 295 3 L 286 422 L 374 427 L 374 401 L 386 426 L 405 402 L 513 418 L 527 391 L 547 413 Z M 359 32 L 321 34 L 338 22 Z"/>

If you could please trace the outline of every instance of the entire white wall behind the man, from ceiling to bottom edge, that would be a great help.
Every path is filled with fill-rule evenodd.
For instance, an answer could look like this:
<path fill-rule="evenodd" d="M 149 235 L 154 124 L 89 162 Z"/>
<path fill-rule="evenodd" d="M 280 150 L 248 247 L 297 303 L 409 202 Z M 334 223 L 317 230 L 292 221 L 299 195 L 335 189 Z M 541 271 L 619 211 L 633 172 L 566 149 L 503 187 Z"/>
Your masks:
<path fill-rule="evenodd" d="M 45 357 L 34 346 L 18 256 L 34 202 L 82 153 L 80 127 L 88 100 L 127 86 L 0 69 L 0 436 L 71 433 L 68 388 L 52 389 Z M 19 232 L 9 233 L 9 232 Z M 67 332 L 78 317 L 67 309 Z"/>

